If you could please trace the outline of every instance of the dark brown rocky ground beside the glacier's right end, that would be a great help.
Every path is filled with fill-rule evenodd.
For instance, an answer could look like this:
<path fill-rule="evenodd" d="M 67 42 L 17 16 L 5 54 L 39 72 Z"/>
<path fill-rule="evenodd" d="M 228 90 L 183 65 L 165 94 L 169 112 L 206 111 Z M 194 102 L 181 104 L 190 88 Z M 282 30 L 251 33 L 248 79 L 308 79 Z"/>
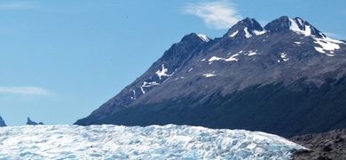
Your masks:
<path fill-rule="evenodd" d="M 295 136 L 290 140 L 307 150 L 296 150 L 294 158 L 300 159 L 346 159 L 346 129 L 325 133 Z"/>

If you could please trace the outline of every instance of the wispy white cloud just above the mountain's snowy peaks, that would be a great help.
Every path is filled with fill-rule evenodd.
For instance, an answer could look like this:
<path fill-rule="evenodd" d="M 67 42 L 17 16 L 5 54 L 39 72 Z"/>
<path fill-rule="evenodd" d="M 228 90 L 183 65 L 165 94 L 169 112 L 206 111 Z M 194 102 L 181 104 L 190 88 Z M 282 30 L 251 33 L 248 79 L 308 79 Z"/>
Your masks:
<path fill-rule="evenodd" d="M 200 2 L 187 4 L 184 13 L 200 17 L 208 28 L 224 29 L 231 28 L 242 19 L 240 13 L 229 1 Z"/>

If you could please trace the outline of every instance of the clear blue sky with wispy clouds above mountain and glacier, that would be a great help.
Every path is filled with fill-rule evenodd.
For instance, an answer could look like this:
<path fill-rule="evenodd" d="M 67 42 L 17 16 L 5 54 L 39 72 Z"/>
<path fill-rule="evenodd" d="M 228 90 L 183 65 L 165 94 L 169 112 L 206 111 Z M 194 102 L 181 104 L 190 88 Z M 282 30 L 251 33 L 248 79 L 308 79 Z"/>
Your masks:
<path fill-rule="evenodd" d="M 73 124 L 190 33 L 223 36 L 238 20 L 301 17 L 346 39 L 346 1 L 0 1 L 0 116 Z"/>

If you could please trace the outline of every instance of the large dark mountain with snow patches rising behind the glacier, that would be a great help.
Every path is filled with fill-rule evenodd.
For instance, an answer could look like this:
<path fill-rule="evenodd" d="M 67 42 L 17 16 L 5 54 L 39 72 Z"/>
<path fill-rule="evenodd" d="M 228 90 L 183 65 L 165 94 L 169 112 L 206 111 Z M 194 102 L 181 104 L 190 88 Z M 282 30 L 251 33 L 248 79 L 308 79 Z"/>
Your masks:
<path fill-rule="evenodd" d="M 75 124 L 189 124 L 292 137 L 346 127 L 346 43 L 286 16 L 190 34 Z"/>

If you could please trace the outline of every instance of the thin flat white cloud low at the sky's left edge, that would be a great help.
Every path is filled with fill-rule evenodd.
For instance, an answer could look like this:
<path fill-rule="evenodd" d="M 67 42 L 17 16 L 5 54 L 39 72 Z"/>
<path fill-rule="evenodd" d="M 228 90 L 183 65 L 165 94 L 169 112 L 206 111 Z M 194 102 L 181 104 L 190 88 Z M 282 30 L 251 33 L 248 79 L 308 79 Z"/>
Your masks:
<path fill-rule="evenodd" d="M 0 93 L 12 93 L 21 95 L 51 95 L 49 90 L 36 86 L 0 86 Z"/>

